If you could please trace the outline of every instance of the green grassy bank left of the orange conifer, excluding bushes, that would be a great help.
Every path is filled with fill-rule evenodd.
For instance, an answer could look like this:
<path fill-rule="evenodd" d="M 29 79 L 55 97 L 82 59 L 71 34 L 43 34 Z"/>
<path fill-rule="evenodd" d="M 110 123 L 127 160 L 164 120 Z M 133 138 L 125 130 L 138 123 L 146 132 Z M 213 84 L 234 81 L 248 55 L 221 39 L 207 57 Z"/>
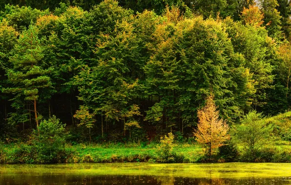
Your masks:
<path fill-rule="evenodd" d="M 188 144 L 174 148 L 177 163 L 194 163 L 203 156 L 203 149 Z M 32 146 L 24 144 L 3 145 L 0 163 L 45 163 Z M 156 162 L 155 145 L 66 145 L 64 152 L 51 163 L 112 163 L 112 162 Z"/>

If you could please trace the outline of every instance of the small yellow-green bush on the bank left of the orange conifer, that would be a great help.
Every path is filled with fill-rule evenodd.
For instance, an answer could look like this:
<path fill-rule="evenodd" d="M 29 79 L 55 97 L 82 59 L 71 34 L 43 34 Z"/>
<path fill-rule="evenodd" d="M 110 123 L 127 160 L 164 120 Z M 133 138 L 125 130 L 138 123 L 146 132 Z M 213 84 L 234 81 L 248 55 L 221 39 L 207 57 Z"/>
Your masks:
<path fill-rule="evenodd" d="M 170 132 L 168 136 L 161 137 L 160 144 L 156 148 L 157 161 L 162 163 L 175 162 L 174 148 L 174 135 Z"/>

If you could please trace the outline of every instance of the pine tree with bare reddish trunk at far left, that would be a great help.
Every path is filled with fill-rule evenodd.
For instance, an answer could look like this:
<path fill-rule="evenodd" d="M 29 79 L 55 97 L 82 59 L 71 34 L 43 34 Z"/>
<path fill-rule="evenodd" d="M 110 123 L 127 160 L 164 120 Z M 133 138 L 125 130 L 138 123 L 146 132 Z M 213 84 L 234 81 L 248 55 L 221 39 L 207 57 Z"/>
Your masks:
<path fill-rule="evenodd" d="M 37 128 L 39 128 L 37 102 L 50 97 L 52 89 L 51 79 L 47 75 L 52 69 L 42 63 L 42 51 L 37 30 L 30 26 L 20 35 L 12 51 L 13 56 L 10 57 L 13 68 L 9 69 L 6 75 L 14 87 L 4 89 L 4 92 L 15 94 L 12 106 L 16 109 L 23 109 L 20 103 L 22 100 L 33 105 Z"/>

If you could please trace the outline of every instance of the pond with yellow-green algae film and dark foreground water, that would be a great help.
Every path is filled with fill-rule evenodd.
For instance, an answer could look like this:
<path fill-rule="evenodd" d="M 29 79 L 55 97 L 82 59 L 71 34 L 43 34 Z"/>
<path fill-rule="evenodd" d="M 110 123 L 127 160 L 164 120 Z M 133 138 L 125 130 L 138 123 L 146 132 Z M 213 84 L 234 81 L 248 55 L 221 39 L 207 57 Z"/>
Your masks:
<path fill-rule="evenodd" d="M 0 185 L 291 185 L 291 164 L 0 165 Z"/>

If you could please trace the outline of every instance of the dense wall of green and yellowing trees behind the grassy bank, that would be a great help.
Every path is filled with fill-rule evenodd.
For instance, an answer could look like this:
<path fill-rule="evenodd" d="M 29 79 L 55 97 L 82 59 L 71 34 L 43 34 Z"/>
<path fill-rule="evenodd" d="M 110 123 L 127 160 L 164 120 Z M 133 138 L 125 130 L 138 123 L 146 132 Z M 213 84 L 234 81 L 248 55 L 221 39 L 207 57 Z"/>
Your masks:
<path fill-rule="evenodd" d="M 0 133 L 56 115 L 84 140 L 191 136 L 210 94 L 228 124 L 289 110 L 290 6 L 1 1 Z"/>

